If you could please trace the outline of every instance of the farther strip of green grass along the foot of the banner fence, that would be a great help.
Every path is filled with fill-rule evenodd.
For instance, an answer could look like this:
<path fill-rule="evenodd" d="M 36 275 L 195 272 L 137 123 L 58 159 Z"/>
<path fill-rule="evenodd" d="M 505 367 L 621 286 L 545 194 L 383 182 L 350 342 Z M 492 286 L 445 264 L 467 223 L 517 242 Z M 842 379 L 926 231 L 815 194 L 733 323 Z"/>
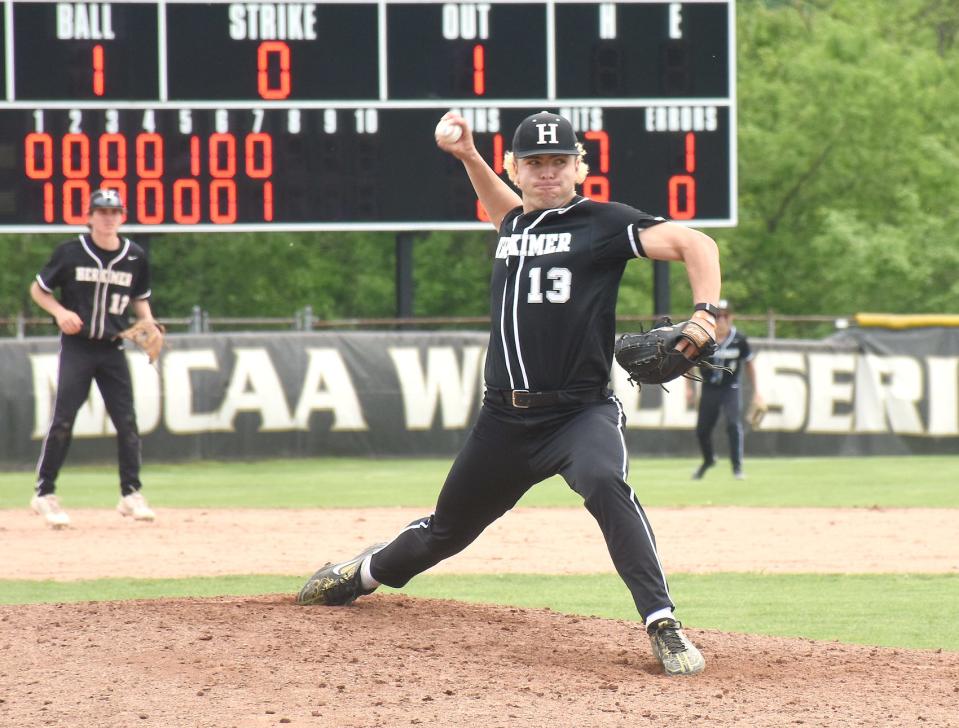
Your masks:
<path fill-rule="evenodd" d="M 145 492 L 168 508 L 430 507 L 450 458 L 318 458 L 257 462 L 147 462 Z M 642 503 L 663 506 L 959 508 L 959 456 L 764 458 L 746 463 L 734 480 L 724 462 L 691 481 L 690 458 L 634 459 L 630 483 Z M 59 492 L 70 508 L 112 507 L 114 465 L 70 466 Z M 33 473 L 0 473 L 0 508 L 23 508 Z M 533 488 L 523 506 L 580 503 L 560 478 Z"/>

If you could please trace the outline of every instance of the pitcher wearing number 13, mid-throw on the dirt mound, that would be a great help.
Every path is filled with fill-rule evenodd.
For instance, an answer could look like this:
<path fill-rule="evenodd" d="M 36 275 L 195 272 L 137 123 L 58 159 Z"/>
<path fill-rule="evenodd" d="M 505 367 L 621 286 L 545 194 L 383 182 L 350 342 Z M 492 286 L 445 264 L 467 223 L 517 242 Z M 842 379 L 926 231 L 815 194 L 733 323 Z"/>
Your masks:
<path fill-rule="evenodd" d="M 666 672 L 697 673 L 705 661 L 673 618 L 652 527 L 626 480 L 623 408 L 607 385 L 626 263 L 682 260 L 695 301 L 710 304 L 694 316 L 712 334 L 708 309 L 720 294 L 716 244 L 627 205 L 577 195 L 587 169 L 564 118 L 542 112 L 517 128 L 504 162 L 522 197 L 476 151 L 466 120 L 445 118 L 463 133 L 456 141 L 437 137 L 437 144 L 463 162 L 500 234 L 483 406 L 434 513 L 385 546 L 327 564 L 297 601 L 349 604 L 380 583 L 401 587 L 461 551 L 530 487 L 559 473 L 598 521 Z"/>

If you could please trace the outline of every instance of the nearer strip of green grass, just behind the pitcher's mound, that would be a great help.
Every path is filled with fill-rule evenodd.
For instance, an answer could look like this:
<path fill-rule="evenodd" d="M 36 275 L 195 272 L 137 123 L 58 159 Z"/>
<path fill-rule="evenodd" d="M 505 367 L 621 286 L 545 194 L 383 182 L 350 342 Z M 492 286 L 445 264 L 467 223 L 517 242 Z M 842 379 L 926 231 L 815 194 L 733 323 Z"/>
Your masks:
<path fill-rule="evenodd" d="M 303 576 L 194 579 L 2 581 L 0 603 L 285 593 Z M 959 576 L 902 574 L 678 574 L 670 579 L 680 619 L 727 632 L 959 651 Z M 384 592 L 396 590 L 384 588 Z M 424 574 L 402 593 L 475 603 L 549 607 L 557 612 L 636 620 L 614 574 L 447 576 Z"/>

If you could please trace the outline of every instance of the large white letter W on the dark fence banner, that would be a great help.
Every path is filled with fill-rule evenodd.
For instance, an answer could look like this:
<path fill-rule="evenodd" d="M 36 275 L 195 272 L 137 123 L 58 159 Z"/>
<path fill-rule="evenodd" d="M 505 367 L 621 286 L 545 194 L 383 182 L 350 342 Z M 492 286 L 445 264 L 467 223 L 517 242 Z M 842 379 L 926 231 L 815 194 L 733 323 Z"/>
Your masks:
<path fill-rule="evenodd" d="M 428 430 L 440 404 L 443 429 L 466 427 L 476 403 L 476 373 L 482 361 L 482 348 L 463 347 L 463 366 L 459 366 L 452 346 L 429 347 L 426 371 L 417 347 L 390 347 L 389 354 L 403 394 L 403 410 L 408 430 Z"/>

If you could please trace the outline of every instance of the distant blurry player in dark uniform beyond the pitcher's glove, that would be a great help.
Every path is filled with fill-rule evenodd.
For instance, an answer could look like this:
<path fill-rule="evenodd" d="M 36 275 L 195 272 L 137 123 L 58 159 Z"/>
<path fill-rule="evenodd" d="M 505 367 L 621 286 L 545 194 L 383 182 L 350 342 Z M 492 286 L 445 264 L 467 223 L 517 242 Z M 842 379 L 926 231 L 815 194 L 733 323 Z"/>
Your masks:
<path fill-rule="evenodd" d="M 716 316 L 716 353 L 709 361 L 716 367 L 700 367 L 702 384 L 699 397 L 699 416 L 696 421 L 696 437 L 703 462 L 695 472 L 693 480 L 700 480 L 713 465 L 716 454 L 713 451 L 713 428 L 722 413 L 726 420 L 726 434 L 729 436 L 729 460 L 733 467 L 733 476 L 742 480 L 743 471 L 743 394 L 742 372 L 749 373 L 752 385 L 753 405 L 761 406 L 763 398 L 756 383 L 756 367 L 753 364 L 755 354 L 749 348 L 746 336 L 733 326 L 732 309 L 726 300 L 721 300 Z M 687 380 L 688 381 L 688 380 Z M 690 399 L 695 397 L 696 388 L 689 383 L 687 393 Z"/>

